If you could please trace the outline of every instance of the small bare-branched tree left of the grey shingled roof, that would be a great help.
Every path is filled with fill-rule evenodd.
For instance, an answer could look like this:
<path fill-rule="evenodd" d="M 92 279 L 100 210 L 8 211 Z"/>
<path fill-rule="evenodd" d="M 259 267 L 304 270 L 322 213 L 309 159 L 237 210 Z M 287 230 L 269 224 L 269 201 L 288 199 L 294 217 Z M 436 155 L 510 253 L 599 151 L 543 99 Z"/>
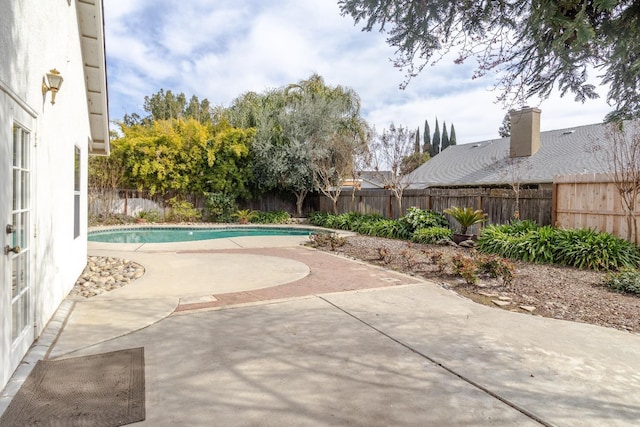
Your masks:
<path fill-rule="evenodd" d="M 392 191 L 402 214 L 402 195 L 412 183 L 410 171 L 402 169 L 402 162 L 413 152 L 414 132 L 393 123 L 382 135 L 374 135 L 369 146 L 374 177 Z"/>

